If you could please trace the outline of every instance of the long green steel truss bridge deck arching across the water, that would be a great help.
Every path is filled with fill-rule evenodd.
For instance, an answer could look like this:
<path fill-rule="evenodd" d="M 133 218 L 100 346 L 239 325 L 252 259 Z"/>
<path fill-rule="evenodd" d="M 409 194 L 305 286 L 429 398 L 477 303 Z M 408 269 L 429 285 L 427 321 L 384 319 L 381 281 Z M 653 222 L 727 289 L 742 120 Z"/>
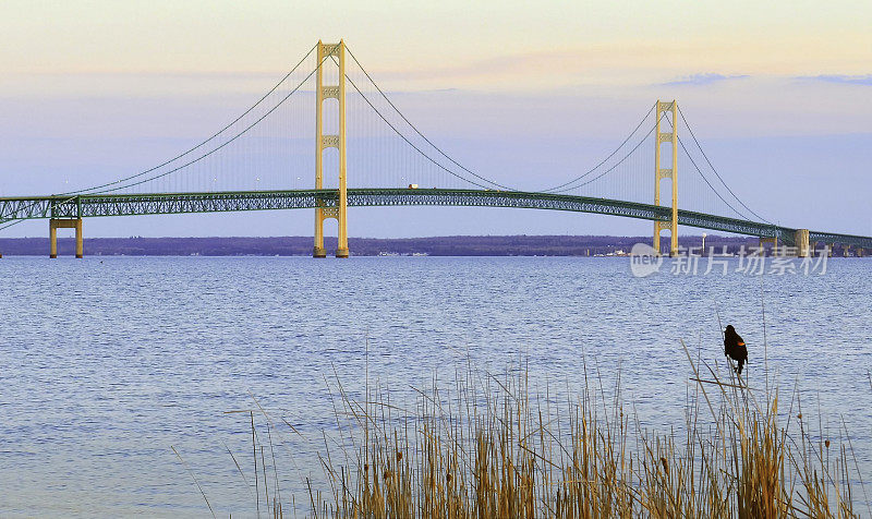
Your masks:
<path fill-rule="evenodd" d="M 98 216 L 167 215 L 266 209 L 302 209 L 335 206 L 336 190 L 226 191 L 201 193 L 83 194 L 0 197 L 0 225 L 35 218 L 89 218 Z M 374 206 L 474 206 L 571 210 L 668 220 L 669 208 L 608 198 L 519 191 L 440 189 L 350 189 L 350 207 Z M 678 210 L 681 226 L 794 243 L 796 229 L 723 216 Z M 872 248 L 872 238 L 811 231 L 813 242 Z"/>

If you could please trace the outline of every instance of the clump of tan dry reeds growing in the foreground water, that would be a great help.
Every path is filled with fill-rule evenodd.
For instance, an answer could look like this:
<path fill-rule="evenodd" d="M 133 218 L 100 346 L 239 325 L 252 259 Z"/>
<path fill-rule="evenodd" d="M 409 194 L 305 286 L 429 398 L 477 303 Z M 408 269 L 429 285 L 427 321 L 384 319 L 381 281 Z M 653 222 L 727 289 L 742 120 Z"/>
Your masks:
<path fill-rule="evenodd" d="M 680 435 L 644 432 L 619 388 L 609 399 L 585 383 L 558 401 L 526 370 L 434 381 L 414 410 L 386 388 L 340 390 L 352 448 L 325 444 L 329 488 L 310 488 L 312 517 L 859 517 L 849 445 L 813 435 L 796 394 L 779 413 L 777 390 L 700 367 Z"/>

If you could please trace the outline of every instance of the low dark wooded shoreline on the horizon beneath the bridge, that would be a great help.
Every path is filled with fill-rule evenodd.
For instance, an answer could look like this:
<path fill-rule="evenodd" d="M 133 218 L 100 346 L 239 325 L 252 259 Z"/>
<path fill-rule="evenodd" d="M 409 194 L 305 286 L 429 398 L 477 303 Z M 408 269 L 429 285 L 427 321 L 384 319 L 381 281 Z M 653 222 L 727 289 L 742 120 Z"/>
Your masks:
<path fill-rule="evenodd" d="M 327 238 L 328 251 L 336 239 Z M 682 236 L 682 246 L 699 248 L 700 236 Z M 355 256 L 602 256 L 627 253 L 651 237 L 617 236 L 455 236 L 428 238 L 350 238 Z M 756 238 L 707 236 L 706 248 L 736 252 L 756 246 Z M 312 237 L 85 238 L 86 256 L 308 256 Z M 668 238 L 663 245 L 668 248 Z M 58 240 L 61 255 L 72 255 L 72 238 Z M 47 238 L 0 238 L 4 256 L 48 255 Z"/>

